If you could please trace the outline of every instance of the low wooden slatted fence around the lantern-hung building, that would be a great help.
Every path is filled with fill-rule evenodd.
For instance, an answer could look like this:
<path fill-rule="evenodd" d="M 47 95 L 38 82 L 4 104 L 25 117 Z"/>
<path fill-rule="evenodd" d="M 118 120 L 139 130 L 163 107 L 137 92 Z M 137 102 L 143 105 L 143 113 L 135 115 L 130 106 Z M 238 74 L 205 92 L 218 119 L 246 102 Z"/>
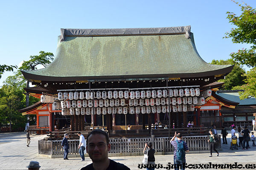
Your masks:
<path fill-rule="evenodd" d="M 189 150 L 208 150 L 209 136 L 184 136 L 183 140 L 188 144 Z M 221 137 L 218 135 L 218 144 L 216 148 L 221 147 Z M 132 138 L 132 139 L 109 139 L 111 150 L 109 153 L 142 153 L 145 142 L 152 142 L 156 152 L 168 153 L 173 152 L 174 148 L 168 137 L 161 138 Z M 69 154 L 78 154 L 79 140 L 68 140 Z M 63 155 L 64 150 L 61 147 L 61 140 L 46 141 L 44 139 L 38 141 L 39 154 L 43 155 Z"/>

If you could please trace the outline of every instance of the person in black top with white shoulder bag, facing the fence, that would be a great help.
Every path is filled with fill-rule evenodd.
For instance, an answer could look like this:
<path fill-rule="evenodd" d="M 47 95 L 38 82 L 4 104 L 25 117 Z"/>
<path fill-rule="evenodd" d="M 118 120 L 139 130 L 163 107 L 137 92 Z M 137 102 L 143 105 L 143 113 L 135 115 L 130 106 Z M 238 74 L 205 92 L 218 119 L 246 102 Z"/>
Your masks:
<path fill-rule="evenodd" d="M 154 170 L 154 164 L 155 164 L 154 153 L 155 152 L 156 152 L 156 150 L 154 150 L 152 148 L 152 143 L 151 142 L 145 143 L 143 153 L 148 154 L 148 164 L 147 164 L 147 167 L 146 167 L 147 170 Z"/>

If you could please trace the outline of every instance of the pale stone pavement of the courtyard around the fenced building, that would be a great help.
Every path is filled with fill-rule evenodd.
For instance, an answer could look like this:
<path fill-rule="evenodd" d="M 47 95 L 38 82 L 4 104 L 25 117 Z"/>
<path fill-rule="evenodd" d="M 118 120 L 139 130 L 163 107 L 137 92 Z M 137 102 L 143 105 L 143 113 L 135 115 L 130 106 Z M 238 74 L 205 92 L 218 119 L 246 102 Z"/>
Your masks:
<path fill-rule="evenodd" d="M 220 132 L 220 131 L 218 131 Z M 89 157 L 85 161 L 80 161 L 81 158 L 71 158 L 63 160 L 63 158 L 49 159 L 38 156 L 38 140 L 44 139 L 46 135 L 31 135 L 30 147 L 26 147 L 26 133 L 0 133 L 0 170 L 27 170 L 26 166 L 30 161 L 39 161 L 40 170 L 80 170 L 81 167 L 91 163 Z M 230 140 L 230 131 L 228 136 Z M 221 142 L 222 143 L 222 142 Z M 208 157 L 208 153 L 188 153 L 186 154 L 187 164 L 256 164 L 256 147 L 249 142 L 248 150 L 230 150 L 230 144 L 222 145 L 220 155 L 217 157 L 213 153 L 213 157 Z M 120 156 L 110 157 L 111 159 L 123 163 L 131 168 L 131 170 L 140 170 L 138 164 L 141 163 L 143 156 Z M 173 163 L 173 155 L 156 155 L 156 164 L 163 164 L 167 167 L 170 162 Z M 144 168 L 143 168 L 144 169 Z M 166 168 L 158 168 L 165 170 Z M 187 168 L 189 169 L 189 168 Z M 236 168 L 235 168 L 236 169 Z M 241 168 L 246 169 L 246 168 Z M 155 169 L 157 170 L 157 168 Z"/>

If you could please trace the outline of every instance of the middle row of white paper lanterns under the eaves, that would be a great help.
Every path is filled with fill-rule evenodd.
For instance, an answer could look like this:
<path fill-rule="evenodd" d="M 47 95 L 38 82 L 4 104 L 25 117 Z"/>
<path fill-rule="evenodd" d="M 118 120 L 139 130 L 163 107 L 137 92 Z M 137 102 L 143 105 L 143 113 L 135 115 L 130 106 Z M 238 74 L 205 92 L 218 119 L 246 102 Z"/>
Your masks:
<path fill-rule="evenodd" d="M 170 101 L 170 102 L 169 102 Z M 90 100 L 67 100 L 61 102 L 54 102 L 53 108 L 60 110 L 63 108 L 93 108 L 94 107 L 118 107 L 125 106 L 125 99 L 90 99 Z M 204 97 L 172 97 L 172 98 L 156 98 L 156 99 L 129 99 L 129 106 L 154 106 L 154 105 L 204 105 Z"/>

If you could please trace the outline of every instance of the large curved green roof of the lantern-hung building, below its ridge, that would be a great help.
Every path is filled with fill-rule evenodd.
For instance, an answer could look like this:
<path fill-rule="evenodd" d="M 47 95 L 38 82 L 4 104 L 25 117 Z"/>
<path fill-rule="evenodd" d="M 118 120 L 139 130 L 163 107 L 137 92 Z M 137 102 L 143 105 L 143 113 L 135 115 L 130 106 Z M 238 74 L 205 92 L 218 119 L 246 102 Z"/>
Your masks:
<path fill-rule="evenodd" d="M 232 65 L 210 65 L 195 48 L 193 34 L 66 37 L 58 40 L 47 67 L 23 71 L 26 79 L 74 81 L 227 74 Z"/>

